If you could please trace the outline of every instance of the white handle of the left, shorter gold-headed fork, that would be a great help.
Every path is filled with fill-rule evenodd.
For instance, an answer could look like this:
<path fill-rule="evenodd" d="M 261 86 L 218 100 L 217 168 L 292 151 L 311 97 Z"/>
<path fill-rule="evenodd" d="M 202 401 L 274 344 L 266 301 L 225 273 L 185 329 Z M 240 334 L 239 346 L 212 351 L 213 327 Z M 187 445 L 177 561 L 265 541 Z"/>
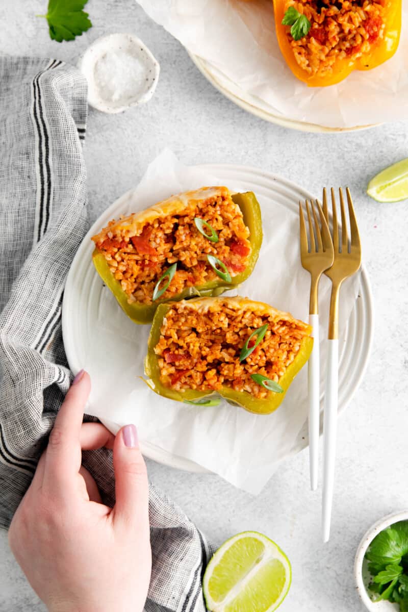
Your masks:
<path fill-rule="evenodd" d="M 319 315 L 309 315 L 309 324 L 313 327 L 313 351 L 308 363 L 308 396 L 309 396 L 309 463 L 310 487 L 317 489 L 319 472 L 319 430 L 320 430 L 320 359 L 319 359 Z"/>

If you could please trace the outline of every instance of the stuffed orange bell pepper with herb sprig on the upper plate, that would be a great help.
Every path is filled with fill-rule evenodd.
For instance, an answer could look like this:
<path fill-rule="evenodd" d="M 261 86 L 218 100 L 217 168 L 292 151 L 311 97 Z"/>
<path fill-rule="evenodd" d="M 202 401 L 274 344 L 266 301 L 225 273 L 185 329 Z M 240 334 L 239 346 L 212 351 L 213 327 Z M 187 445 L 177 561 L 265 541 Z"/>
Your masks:
<path fill-rule="evenodd" d="M 311 87 L 371 70 L 398 48 L 402 0 L 273 0 L 280 49 Z"/>

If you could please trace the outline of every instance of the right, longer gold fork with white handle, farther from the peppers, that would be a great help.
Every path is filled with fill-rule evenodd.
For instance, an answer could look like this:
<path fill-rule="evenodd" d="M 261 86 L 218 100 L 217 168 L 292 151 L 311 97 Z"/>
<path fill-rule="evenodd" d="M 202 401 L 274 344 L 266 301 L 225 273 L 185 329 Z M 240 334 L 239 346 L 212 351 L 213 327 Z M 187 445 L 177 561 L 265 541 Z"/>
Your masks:
<path fill-rule="evenodd" d="M 323 501 L 322 529 L 323 541 L 328 542 L 330 536 L 330 519 L 332 515 L 336 435 L 337 435 L 337 405 L 338 405 L 338 310 L 339 291 L 343 281 L 358 271 L 362 262 L 362 248 L 355 220 L 354 207 L 347 187 L 347 204 L 351 240 L 347 233 L 347 217 L 344 205 L 343 190 L 339 188 L 341 224 L 339 226 L 335 191 L 332 187 L 333 209 L 333 246 L 335 258 L 333 266 L 325 271 L 332 280 L 332 295 L 330 297 L 330 318 L 328 323 L 328 359 L 327 381 L 325 388 L 324 422 L 323 422 Z M 323 212 L 328 223 L 327 192 L 323 190 Z M 341 230 L 341 242 L 339 231 Z"/>

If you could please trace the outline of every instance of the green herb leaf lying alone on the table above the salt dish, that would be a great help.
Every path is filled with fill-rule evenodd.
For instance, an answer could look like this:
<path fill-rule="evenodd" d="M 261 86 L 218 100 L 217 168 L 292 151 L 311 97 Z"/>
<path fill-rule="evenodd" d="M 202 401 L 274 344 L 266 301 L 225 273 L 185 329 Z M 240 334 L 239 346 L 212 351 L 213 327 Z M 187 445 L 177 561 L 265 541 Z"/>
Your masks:
<path fill-rule="evenodd" d="M 92 27 L 89 15 L 83 8 L 87 0 L 49 0 L 45 17 L 50 28 L 50 37 L 57 42 L 74 40 Z"/>

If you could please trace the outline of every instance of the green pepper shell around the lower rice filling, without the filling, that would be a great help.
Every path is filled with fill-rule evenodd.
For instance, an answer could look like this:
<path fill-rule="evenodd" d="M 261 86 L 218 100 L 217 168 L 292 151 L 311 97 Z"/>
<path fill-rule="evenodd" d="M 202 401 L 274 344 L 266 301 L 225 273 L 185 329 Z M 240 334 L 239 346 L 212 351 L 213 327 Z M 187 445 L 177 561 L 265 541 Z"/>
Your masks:
<path fill-rule="evenodd" d="M 160 339 L 160 328 L 163 323 L 163 319 L 165 318 L 169 308 L 171 308 L 171 303 L 160 304 L 156 310 L 152 327 L 150 329 L 149 341 L 147 343 L 147 355 L 146 359 L 144 360 L 144 372 L 146 376 L 149 377 L 147 381 L 145 380 L 145 382 L 150 389 L 152 389 L 158 395 L 167 397 L 170 400 L 194 401 L 203 397 L 210 398 L 221 395 L 221 397 L 223 397 L 229 403 L 242 406 L 242 408 L 245 408 L 245 410 L 248 410 L 249 412 L 254 412 L 255 414 L 270 414 L 282 403 L 287 389 L 289 389 L 293 379 L 309 359 L 313 348 L 313 338 L 310 336 L 303 338 L 297 356 L 291 365 L 286 368 L 284 375 L 281 376 L 278 381 L 278 384 L 280 384 L 283 389 L 283 393 L 270 392 L 269 397 L 266 399 L 259 399 L 248 393 L 248 391 L 236 391 L 231 389 L 231 387 L 226 386 L 221 387 L 221 389 L 218 391 L 210 393 L 208 391 L 198 391 L 196 389 L 184 389 L 177 391 L 176 389 L 171 389 L 170 387 L 166 387 L 163 383 L 161 383 L 158 357 L 154 352 L 154 348 Z"/>

